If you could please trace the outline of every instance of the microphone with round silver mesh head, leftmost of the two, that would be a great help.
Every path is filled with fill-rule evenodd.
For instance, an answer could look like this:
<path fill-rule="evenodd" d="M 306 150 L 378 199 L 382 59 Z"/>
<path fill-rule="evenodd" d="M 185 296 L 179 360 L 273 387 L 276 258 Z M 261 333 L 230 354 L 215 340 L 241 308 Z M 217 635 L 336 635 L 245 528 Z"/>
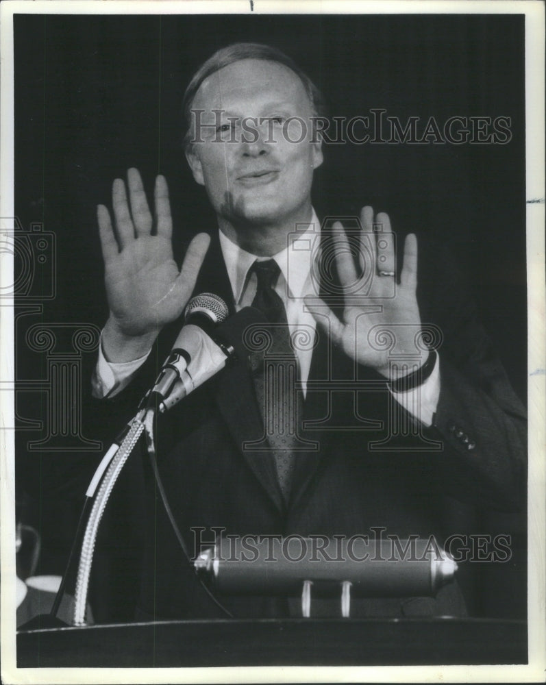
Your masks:
<path fill-rule="evenodd" d="M 225 321 L 226 316 L 227 305 L 218 295 L 203 292 L 190 299 L 184 310 L 182 330 L 156 378 L 151 393 L 156 393 L 161 399 L 172 393 L 188 364 L 199 356 L 203 345 L 210 340 L 214 326 Z"/>

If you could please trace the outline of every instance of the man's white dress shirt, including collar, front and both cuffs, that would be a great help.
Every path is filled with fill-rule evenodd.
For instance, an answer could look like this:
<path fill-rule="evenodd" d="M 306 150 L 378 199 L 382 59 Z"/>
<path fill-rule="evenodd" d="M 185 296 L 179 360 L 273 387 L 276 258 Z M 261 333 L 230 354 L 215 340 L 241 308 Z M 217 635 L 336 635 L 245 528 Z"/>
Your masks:
<path fill-rule="evenodd" d="M 288 236 L 288 245 L 272 259 L 280 268 L 280 275 L 275 285 L 275 291 L 280 296 L 286 308 L 286 320 L 290 333 L 297 330 L 303 333 L 299 340 L 314 338 L 315 321 L 306 310 L 303 297 L 306 295 L 318 295 L 317 284 L 314 282 L 310 256 L 316 252 L 314 249 L 320 235 L 320 223 L 317 215 L 312 214 L 309 225 L 300 225 L 297 233 Z M 229 240 L 220 232 L 220 245 L 222 249 L 229 283 L 235 301 L 236 311 L 251 305 L 256 295 L 256 274 L 250 273 L 252 264 L 256 261 L 266 261 L 269 257 L 257 257 Z M 306 395 L 309 369 L 311 366 L 312 344 L 296 345 L 296 355 L 299 366 L 299 379 Z M 113 363 L 108 362 L 103 354 L 102 345 L 99 347 L 99 360 L 92 378 L 92 393 L 95 397 L 113 397 L 121 392 L 131 381 L 134 373 L 145 362 L 149 353 L 132 362 Z M 404 406 L 408 412 L 416 416 L 427 426 L 432 424 L 434 412 L 440 395 L 440 369 L 438 358 L 431 375 L 427 380 L 414 390 L 407 393 L 393 393 L 395 399 Z"/>

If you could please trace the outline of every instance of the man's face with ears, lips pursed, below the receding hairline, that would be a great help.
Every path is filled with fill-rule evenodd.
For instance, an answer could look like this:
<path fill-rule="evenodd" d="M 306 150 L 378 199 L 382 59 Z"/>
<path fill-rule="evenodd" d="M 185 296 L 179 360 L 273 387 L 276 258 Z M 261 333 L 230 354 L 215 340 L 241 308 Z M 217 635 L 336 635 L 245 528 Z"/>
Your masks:
<path fill-rule="evenodd" d="M 308 95 L 293 71 L 264 60 L 234 62 L 203 81 L 192 110 L 200 142 L 188 162 L 216 214 L 258 225 L 310 210 L 323 158 L 312 142 Z"/>

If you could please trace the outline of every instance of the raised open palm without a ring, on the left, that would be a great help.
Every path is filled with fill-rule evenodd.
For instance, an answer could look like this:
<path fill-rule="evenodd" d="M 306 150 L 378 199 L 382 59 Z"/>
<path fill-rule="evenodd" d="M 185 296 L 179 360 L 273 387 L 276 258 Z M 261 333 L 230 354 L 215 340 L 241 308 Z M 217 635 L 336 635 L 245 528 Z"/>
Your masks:
<path fill-rule="evenodd" d="M 122 179 L 112 187 L 115 231 L 108 209 L 99 205 L 97 219 L 105 264 L 110 318 L 103 347 L 111 361 L 129 359 L 149 349 L 160 329 L 182 313 L 195 287 L 210 238 L 201 233 L 186 251 L 182 269 L 173 258 L 169 190 L 163 176 L 156 179 L 155 222 L 136 169 L 127 172 L 129 203 Z M 130 210 L 129 210 L 130 206 Z M 155 223 L 156 231 L 152 232 Z M 108 355 L 108 353 L 110 353 Z"/>

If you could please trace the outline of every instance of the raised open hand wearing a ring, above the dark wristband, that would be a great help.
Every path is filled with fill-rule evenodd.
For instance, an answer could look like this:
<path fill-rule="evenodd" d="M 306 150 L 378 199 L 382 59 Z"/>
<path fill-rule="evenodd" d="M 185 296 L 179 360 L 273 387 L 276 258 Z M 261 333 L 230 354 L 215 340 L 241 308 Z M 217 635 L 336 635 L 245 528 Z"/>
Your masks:
<path fill-rule="evenodd" d="M 345 296 L 343 320 L 340 321 L 323 301 L 306 298 L 306 305 L 318 325 L 347 355 L 359 364 L 370 366 L 385 377 L 395 379 L 408 371 L 389 365 L 390 349 L 377 349 L 381 346 L 371 345 L 370 339 L 374 337 L 372 329 L 380 327 L 395 340 L 397 354 L 406 358 L 410 356 L 417 366 L 427 360 L 428 352 L 416 346 L 416 333 L 421 327 L 416 295 L 417 237 L 414 234 L 406 237 L 400 282 L 393 283 L 396 279 L 393 240 L 385 241 L 386 248 L 381 250 L 381 256 L 378 257 L 377 241 L 381 234 L 373 232 L 371 207 L 362 208 L 360 221 L 362 234 L 358 270 L 343 225 L 337 221 L 333 226 L 336 265 Z M 383 234 L 390 234 L 387 214 L 377 214 L 376 221 L 382 225 Z M 371 259 L 364 259 L 364 255 L 370 253 Z M 369 273 L 369 269 L 373 269 L 374 273 Z"/>

